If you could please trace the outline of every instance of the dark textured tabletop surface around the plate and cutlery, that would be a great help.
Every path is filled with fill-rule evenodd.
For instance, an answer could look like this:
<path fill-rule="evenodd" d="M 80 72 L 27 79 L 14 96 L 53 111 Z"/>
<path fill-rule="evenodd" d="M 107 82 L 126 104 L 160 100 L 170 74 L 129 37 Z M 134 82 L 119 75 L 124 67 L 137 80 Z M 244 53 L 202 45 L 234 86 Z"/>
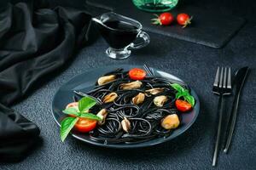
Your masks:
<path fill-rule="evenodd" d="M 113 60 L 105 55 L 102 38 L 83 48 L 71 65 L 45 83 L 14 109 L 36 122 L 41 142 L 24 161 L 0 164 L 0 169 L 211 169 L 213 135 L 218 98 L 212 82 L 218 66 L 233 71 L 249 66 L 251 72 L 241 95 L 236 131 L 228 155 L 220 153 L 215 169 L 256 169 L 256 23 L 247 23 L 227 46 L 207 48 L 171 37 L 149 34 L 151 43 L 133 51 L 129 59 Z M 61 142 L 59 127 L 51 116 L 56 90 L 91 68 L 104 65 L 148 65 L 167 71 L 188 82 L 201 99 L 201 112 L 186 133 L 166 144 L 137 150 L 109 150 L 84 144 L 72 137 Z M 86 81 L 86 77 L 84 77 Z M 226 99 L 229 104 L 231 98 Z M 230 108 L 226 108 L 227 113 Z M 213 169 L 213 168 L 212 168 Z"/>

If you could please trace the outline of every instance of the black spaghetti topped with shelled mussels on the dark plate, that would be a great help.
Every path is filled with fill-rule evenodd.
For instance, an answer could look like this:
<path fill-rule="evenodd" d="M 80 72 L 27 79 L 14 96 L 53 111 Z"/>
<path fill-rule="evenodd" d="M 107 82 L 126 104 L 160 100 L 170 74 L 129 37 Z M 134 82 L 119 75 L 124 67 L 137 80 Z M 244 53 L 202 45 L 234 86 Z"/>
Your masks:
<path fill-rule="evenodd" d="M 74 100 L 90 96 L 98 103 L 90 112 L 105 109 L 108 113 L 104 123 L 90 131 L 90 139 L 104 144 L 140 143 L 167 137 L 177 126 L 182 126 L 175 106 L 177 90 L 172 88 L 172 83 L 163 77 L 132 80 L 127 71 L 118 69 L 103 75 L 89 92 L 75 92 Z M 163 124 L 167 116 L 174 115 L 176 126 L 168 121 Z"/>

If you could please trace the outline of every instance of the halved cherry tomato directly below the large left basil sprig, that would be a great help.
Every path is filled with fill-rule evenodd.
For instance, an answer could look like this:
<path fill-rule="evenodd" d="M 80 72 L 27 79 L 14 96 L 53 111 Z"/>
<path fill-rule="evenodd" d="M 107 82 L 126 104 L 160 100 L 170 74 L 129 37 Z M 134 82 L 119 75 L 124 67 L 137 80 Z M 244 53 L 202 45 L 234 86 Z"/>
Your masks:
<path fill-rule="evenodd" d="M 88 133 L 96 127 L 96 120 L 79 118 L 79 121 L 75 124 L 75 129 L 80 133 Z"/>

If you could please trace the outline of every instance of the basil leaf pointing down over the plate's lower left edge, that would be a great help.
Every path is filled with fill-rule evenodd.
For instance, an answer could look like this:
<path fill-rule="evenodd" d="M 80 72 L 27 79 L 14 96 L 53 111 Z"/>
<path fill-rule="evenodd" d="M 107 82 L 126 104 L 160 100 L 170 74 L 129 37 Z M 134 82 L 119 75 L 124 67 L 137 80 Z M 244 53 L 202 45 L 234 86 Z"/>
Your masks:
<path fill-rule="evenodd" d="M 67 138 L 67 134 L 71 131 L 76 122 L 79 121 L 79 117 L 66 117 L 61 121 L 61 141 L 63 142 Z"/>

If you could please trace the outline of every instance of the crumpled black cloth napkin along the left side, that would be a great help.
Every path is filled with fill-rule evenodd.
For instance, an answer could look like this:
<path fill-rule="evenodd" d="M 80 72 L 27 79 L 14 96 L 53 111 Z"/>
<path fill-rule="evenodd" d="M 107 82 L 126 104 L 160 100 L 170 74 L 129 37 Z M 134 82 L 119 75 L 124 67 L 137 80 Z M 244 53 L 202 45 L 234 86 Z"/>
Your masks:
<path fill-rule="evenodd" d="M 0 161 L 18 161 L 38 126 L 9 106 L 37 88 L 88 41 L 90 14 L 44 1 L 0 3 Z"/>

